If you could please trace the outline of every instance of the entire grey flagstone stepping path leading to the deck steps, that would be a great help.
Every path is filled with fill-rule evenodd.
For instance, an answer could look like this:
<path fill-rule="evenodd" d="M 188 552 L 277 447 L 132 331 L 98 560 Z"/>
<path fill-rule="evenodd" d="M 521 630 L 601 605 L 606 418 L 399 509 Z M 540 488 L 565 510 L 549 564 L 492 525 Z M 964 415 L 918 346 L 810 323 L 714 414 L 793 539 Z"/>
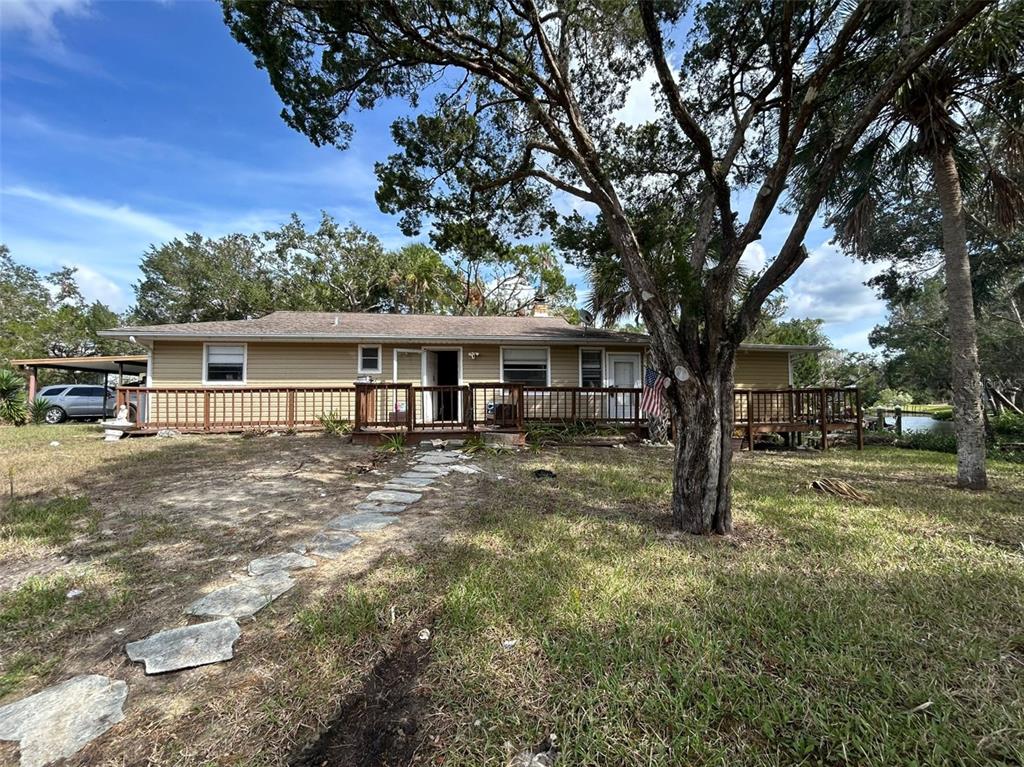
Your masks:
<path fill-rule="evenodd" d="M 451 474 L 482 471 L 463 463 L 468 456 L 452 450 L 417 453 L 413 465 L 399 476 L 384 479 L 383 488 L 369 493 L 355 505 L 331 519 L 305 547 L 259 557 L 249 562 L 247 576 L 237 583 L 206 594 L 185 612 L 215 621 L 194 624 L 128 642 L 125 652 L 144 664 L 146 674 L 166 674 L 229 661 L 242 635 L 237 619 L 251 617 L 295 586 L 289 574 L 316 564 L 310 556 L 336 559 L 362 543 L 355 532 L 380 530 L 398 521 L 401 514 L 423 498 L 423 492 Z M 20 767 L 43 767 L 73 756 L 89 741 L 124 719 L 122 706 L 128 685 L 98 675 L 74 677 L 34 695 L 0 707 L 0 739 L 17 740 Z"/>

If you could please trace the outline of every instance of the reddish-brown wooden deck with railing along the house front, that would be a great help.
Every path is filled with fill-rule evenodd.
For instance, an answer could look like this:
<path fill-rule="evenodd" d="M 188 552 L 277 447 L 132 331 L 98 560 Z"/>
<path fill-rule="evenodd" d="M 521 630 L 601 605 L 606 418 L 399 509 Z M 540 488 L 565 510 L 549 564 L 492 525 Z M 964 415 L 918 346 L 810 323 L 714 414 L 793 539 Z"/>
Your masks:
<path fill-rule="evenodd" d="M 417 386 L 203 386 L 118 389 L 118 403 L 134 406 L 140 431 L 188 432 L 248 429 L 319 429 L 331 416 L 352 424 L 355 435 L 410 436 L 522 433 L 530 422 L 585 421 L 640 432 L 642 390 L 474 383 Z M 823 425 L 823 428 L 822 428 Z M 857 389 L 737 389 L 736 435 L 750 448 L 758 434 L 854 432 L 863 444 Z"/>

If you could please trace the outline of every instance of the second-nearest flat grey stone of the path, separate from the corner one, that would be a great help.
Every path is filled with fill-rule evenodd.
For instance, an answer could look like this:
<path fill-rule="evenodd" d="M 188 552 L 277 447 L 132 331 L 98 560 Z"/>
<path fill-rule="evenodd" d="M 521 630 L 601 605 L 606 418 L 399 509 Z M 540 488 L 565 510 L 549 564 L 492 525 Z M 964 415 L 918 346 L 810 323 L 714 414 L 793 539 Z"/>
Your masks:
<path fill-rule="evenodd" d="M 145 664 L 146 674 L 163 674 L 230 661 L 234 656 L 234 640 L 241 635 L 242 630 L 233 617 L 222 617 L 158 632 L 137 642 L 129 642 L 125 651 L 132 661 Z"/>

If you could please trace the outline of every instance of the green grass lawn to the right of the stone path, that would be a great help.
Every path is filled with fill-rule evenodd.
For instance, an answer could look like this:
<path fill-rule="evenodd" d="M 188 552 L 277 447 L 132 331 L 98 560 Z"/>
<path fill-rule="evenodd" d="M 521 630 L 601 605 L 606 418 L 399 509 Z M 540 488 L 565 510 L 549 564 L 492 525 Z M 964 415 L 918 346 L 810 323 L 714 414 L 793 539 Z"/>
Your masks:
<path fill-rule="evenodd" d="M 743 455 L 735 535 L 695 539 L 667 526 L 669 460 L 496 459 L 512 481 L 461 536 L 304 625 L 378 641 L 368 605 L 438 605 L 420 682 L 445 765 L 549 732 L 570 765 L 1024 762 L 1019 467 L 993 461 L 995 489 L 973 495 L 940 454 Z M 822 475 L 870 503 L 816 494 Z"/>

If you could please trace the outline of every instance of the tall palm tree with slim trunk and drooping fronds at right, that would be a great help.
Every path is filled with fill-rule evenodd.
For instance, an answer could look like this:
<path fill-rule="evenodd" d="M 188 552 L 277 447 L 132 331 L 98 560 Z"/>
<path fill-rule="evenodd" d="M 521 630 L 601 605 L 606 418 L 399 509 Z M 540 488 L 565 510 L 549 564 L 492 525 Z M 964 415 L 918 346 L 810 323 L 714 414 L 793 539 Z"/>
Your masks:
<path fill-rule="evenodd" d="M 911 17 L 909 3 L 903 12 L 905 35 L 936 20 Z M 1022 50 L 1024 2 L 999 3 L 979 15 L 899 91 L 874 134 L 851 157 L 833 200 L 841 239 L 870 257 L 881 201 L 912 197 L 916 184 L 931 181 L 941 214 L 956 481 L 979 489 L 988 479 L 968 223 L 984 216 L 1007 230 L 1024 219 Z"/>

